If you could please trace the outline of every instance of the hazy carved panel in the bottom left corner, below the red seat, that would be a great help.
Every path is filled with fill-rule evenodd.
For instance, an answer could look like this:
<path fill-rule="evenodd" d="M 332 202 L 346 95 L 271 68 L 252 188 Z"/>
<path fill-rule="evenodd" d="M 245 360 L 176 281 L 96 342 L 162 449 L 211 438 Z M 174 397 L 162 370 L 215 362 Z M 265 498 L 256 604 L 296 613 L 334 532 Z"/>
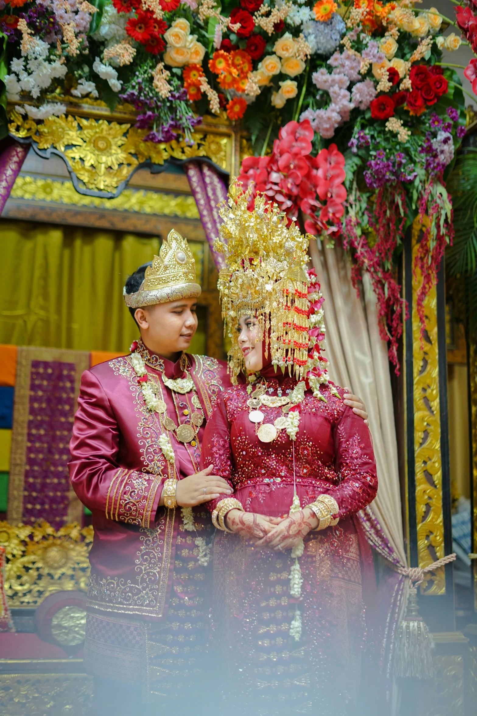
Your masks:
<path fill-rule="evenodd" d="M 88 674 L 0 674 L 0 713 L 87 716 L 92 693 Z"/>

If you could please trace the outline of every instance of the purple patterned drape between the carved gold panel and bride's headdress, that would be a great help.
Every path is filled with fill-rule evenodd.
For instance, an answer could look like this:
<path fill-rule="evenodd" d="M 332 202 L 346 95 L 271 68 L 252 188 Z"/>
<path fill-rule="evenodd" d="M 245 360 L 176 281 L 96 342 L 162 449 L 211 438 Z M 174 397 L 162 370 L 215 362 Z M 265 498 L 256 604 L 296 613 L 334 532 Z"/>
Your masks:
<path fill-rule="evenodd" d="M 200 221 L 209 242 L 210 252 L 217 270 L 225 266 L 222 254 L 214 249 L 214 241 L 219 236 L 222 223 L 217 204 L 227 198 L 227 185 L 220 174 L 205 162 L 188 162 L 185 165 L 187 179 L 199 209 Z"/>

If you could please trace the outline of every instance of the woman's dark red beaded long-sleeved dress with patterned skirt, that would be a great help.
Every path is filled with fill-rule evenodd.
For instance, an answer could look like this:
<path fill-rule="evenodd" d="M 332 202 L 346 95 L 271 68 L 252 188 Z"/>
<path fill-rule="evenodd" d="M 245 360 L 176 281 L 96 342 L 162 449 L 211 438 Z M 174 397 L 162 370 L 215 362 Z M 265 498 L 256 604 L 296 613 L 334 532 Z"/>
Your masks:
<path fill-rule="evenodd" d="M 265 395 L 287 395 L 296 385 L 270 375 L 272 369 Z M 305 537 L 300 599 L 290 596 L 295 560 L 289 550 L 259 550 L 235 534 L 217 533 L 214 631 L 225 695 L 239 705 L 237 713 L 355 716 L 363 667 L 372 675 L 375 634 L 367 601 L 373 561 L 354 516 L 378 488 L 373 447 L 363 420 L 329 389 L 323 395 L 327 402 L 305 393 L 295 442 L 285 430 L 260 442 L 241 385 L 222 392 L 205 429 L 202 464 L 212 463 L 214 473 L 230 482 L 245 511 L 286 516 L 294 474 L 302 507 L 321 494 L 340 507 L 337 526 Z M 282 415 L 280 407 L 260 410 L 263 424 Z M 212 511 L 219 501 L 207 507 Z M 290 637 L 297 609 L 299 641 Z"/>

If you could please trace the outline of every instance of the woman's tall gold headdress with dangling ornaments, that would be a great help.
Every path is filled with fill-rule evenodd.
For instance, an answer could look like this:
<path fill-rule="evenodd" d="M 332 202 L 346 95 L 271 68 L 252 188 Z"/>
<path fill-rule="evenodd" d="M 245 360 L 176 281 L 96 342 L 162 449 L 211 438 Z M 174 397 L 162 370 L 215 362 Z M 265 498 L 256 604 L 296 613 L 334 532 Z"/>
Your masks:
<path fill-rule="evenodd" d="M 319 349 L 315 350 L 315 344 L 322 338 L 309 336 L 316 324 L 313 315 L 310 316 L 315 314 L 313 307 L 310 310 L 310 297 L 313 301 L 323 299 L 318 283 L 318 293 L 317 289 L 309 290 L 315 277 L 310 279 L 307 271 L 308 235 L 303 236 L 295 223 L 287 226 L 286 217 L 277 205 L 267 203 L 265 195 L 258 193 L 255 209 L 249 211 L 249 194 L 242 193 L 240 185 L 232 185 L 228 206 L 223 204 L 220 208 L 223 223 L 220 238 L 215 241 L 215 250 L 223 253 L 226 261 L 217 287 L 225 335 L 232 339 L 229 351 L 232 378 L 245 370 L 237 320 L 240 316 L 256 315 L 257 339 L 265 337 L 266 352 L 270 351 L 273 364 L 287 367 L 297 379 L 313 370 L 313 374 L 323 375 L 319 382 L 326 382 L 328 377 L 322 365 L 325 359 Z M 320 326 L 322 319 L 320 307 Z"/>

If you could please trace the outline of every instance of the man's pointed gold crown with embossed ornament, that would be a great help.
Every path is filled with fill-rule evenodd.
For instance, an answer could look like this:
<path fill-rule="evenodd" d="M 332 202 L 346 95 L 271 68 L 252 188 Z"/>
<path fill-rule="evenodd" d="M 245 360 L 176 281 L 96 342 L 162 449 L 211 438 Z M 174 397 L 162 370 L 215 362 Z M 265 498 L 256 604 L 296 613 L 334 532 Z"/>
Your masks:
<path fill-rule="evenodd" d="M 147 266 L 139 291 L 127 294 L 124 288 L 123 295 L 126 305 L 137 309 L 197 298 L 200 291 L 195 278 L 195 260 L 187 239 L 172 229 L 167 241 L 162 243 L 159 256 L 154 256 L 152 266 Z"/>

